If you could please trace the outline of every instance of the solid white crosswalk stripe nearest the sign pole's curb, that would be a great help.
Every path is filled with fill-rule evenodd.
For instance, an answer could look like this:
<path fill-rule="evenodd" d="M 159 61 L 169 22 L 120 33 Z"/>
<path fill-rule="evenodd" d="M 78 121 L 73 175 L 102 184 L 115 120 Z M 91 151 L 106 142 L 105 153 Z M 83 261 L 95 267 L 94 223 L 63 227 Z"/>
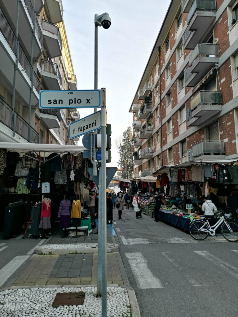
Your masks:
<path fill-rule="evenodd" d="M 163 288 L 161 281 L 150 271 L 142 253 L 126 253 L 125 255 L 135 276 L 138 288 Z"/>

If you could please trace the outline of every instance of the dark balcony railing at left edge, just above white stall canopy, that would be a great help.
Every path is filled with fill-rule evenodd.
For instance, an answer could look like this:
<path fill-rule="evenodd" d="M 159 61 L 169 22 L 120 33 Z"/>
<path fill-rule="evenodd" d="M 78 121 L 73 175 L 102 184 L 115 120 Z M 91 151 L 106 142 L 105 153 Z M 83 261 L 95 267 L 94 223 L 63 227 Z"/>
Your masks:
<path fill-rule="evenodd" d="M 0 122 L 30 143 L 39 143 L 39 134 L 5 101 L 0 99 Z"/>

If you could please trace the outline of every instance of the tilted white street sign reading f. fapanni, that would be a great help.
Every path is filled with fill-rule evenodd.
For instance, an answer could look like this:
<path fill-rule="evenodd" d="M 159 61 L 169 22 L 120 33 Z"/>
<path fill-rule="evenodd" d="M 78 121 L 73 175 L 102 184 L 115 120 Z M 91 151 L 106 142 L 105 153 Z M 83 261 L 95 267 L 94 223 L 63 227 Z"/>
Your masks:
<path fill-rule="evenodd" d="M 69 139 L 74 139 L 101 128 L 101 111 L 90 114 L 69 125 Z"/>

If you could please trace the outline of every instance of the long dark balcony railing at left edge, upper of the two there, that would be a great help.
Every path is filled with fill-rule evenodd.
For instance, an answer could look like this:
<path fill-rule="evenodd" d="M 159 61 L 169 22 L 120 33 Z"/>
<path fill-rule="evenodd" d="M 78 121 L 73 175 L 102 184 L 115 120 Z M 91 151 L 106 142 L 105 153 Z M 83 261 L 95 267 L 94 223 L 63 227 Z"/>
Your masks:
<path fill-rule="evenodd" d="M 11 50 L 13 51 L 14 55 L 17 57 L 17 37 L 13 32 L 10 24 L 7 21 L 7 18 L 3 14 L 2 9 L 0 8 L 0 31 L 3 34 L 4 38 L 8 42 Z M 29 79 L 31 79 L 31 65 L 30 61 L 28 60 L 26 54 L 24 53 L 21 45 L 19 45 L 19 53 L 18 53 L 18 61 L 21 64 L 22 68 L 25 70 L 26 75 Z M 33 73 L 33 86 L 36 88 L 36 91 L 40 92 L 40 81 L 38 80 L 36 73 Z"/>

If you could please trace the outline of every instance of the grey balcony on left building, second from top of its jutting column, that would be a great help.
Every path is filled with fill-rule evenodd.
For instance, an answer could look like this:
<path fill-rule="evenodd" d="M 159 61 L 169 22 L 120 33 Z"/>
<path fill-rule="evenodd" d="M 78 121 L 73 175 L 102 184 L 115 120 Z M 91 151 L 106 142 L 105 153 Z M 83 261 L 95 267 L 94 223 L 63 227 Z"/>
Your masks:
<path fill-rule="evenodd" d="M 56 24 L 42 19 L 44 46 L 50 58 L 62 55 L 62 39 Z"/>

